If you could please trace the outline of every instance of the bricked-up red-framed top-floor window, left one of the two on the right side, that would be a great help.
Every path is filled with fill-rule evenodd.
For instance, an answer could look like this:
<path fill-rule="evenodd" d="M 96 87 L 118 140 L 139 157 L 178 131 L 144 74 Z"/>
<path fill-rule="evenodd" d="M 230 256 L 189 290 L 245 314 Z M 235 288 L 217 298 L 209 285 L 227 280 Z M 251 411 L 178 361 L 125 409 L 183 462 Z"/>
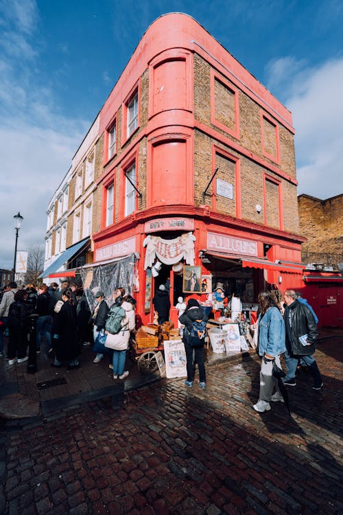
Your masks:
<path fill-rule="evenodd" d="M 211 123 L 239 139 L 238 91 L 214 70 L 211 70 Z"/>

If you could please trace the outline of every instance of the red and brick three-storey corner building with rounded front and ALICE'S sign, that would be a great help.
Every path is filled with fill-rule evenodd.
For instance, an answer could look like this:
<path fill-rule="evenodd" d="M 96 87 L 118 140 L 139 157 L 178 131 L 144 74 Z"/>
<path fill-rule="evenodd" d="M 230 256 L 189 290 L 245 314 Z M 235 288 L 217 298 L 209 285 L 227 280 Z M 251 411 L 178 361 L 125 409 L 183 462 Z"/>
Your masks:
<path fill-rule="evenodd" d="M 171 306 L 218 282 L 246 304 L 303 286 L 292 115 L 191 16 L 147 29 L 99 113 L 98 148 L 93 264 L 136 253 L 143 322 L 167 279 Z"/>

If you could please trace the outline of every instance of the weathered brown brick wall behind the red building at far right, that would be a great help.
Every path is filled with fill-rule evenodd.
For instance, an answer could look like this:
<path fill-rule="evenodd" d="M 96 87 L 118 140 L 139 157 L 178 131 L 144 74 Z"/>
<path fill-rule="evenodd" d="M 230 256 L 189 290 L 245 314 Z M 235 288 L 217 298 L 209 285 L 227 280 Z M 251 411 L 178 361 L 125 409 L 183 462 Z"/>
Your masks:
<path fill-rule="evenodd" d="M 303 251 L 343 253 L 343 194 L 321 201 L 298 196 L 300 233 L 307 238 Z"/>

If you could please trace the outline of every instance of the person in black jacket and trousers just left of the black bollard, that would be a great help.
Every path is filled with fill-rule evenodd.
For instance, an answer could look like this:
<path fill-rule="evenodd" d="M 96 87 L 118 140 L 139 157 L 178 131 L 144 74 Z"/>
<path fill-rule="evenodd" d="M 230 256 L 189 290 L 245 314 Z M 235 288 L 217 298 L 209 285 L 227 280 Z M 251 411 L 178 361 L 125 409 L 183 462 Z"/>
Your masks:
<path fill-rule="evenodd" d="M 27 361 L 27 291 L 17 290 L 8 309 L 8 365 Z"/>

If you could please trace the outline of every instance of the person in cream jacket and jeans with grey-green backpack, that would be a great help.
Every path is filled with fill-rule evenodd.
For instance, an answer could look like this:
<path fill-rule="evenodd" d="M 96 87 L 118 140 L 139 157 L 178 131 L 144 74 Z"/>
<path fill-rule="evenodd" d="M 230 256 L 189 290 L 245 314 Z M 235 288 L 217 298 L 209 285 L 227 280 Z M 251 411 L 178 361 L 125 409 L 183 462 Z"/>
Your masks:
<path fill-rule="evenodd" d="M 135 328 L 134 316 L 135 301 L 130 295 L 117 297 L 111 306 L 106 321 L 105 347 L 113 350 L 113 379 L 125 379 L 128 370 L 125 370 L 126 351 L 130 339 L 130 331 Z"/>

